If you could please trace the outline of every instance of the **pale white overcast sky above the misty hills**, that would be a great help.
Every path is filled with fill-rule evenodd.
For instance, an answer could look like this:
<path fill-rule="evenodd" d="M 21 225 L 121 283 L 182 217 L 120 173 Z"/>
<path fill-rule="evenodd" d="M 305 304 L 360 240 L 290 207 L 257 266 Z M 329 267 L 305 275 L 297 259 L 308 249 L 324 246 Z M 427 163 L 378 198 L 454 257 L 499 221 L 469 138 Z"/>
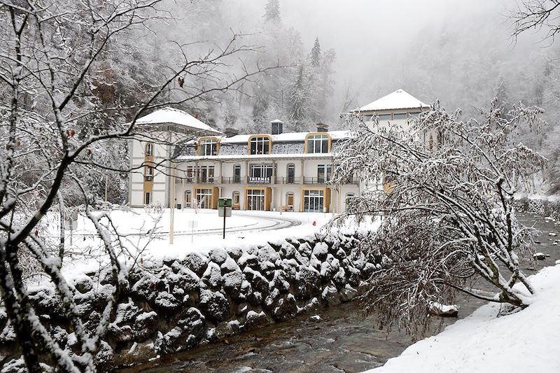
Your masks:
<path fill-rule="evenodd" d="M 266 0 L 235 0 L 252 8 L 253 17 L 264 13 Z M 496 43 L 511 45 L 508 10 L 516 0 L 281 0 L 282 22 L 302 34 L 306 48 L 316 36 L 324 48 L 337 52 L 337 74 L 355 79 L 402 54 L 435 30 L 469 27 L 478 22 L 496 24 Z M 246 15 L 248 16 L 248 15 Z M 248 30 L 246 30 L 248 31 Z M 501 35 L 500 35 L 501 34 Z"/>

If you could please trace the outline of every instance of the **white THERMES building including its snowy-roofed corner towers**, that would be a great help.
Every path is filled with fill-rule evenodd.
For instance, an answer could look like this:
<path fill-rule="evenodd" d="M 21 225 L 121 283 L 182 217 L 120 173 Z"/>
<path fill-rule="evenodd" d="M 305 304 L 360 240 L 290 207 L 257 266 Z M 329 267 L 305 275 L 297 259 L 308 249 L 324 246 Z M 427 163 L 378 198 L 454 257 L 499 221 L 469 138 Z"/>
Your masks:
<path fill-rule="evenodd" d="M 398 90 L 358 111 L 366 121 L 377 115 L 381 122 L 405 126 L 426 108 Z M 216 209 L 218 197 L 228 197 L 234 209 L 339 213 L 348 197 L 363 190 L 351 175 L 342 185 L 328 183 L 333 153 L 349 132 L 328 131 L 327 125 L 317 125 L 316 132 L 283 133 L 283 122 L 274 120 L 269 134 L 222 134 L 175 109 L 146 115 L 139 124 L 149 136 L 132 141 L 131 165 L 141 172 L 130 178 L 131 206 L 197 203 Z"/>

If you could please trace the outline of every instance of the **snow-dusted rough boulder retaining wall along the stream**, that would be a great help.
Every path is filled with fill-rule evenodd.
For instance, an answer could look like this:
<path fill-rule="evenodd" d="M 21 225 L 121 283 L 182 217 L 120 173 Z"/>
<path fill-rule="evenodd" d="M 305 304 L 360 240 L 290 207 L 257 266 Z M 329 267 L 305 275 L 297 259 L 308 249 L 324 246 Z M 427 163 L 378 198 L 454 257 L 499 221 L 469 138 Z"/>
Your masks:
<path fill-rule="evenodd" d="M 366 259 L 356 248 L 359 241 L 358 233 L 315 235 L 145 261 L 130 272 L 130 288 L 97 354 L 99 370 L 184 351 L 302 311 L 347 302 L 358 295 L 379 262 Z M 109 272 L 73 281 L 75 300 L 89 328 L 97 325 L 111 289 Z M 52 290 L 30 293 L 53 337 L 63 348 L 77 349 Z M 0 330 L 1 372 L 18 371 L 15 336 L 1 309 Z"/>

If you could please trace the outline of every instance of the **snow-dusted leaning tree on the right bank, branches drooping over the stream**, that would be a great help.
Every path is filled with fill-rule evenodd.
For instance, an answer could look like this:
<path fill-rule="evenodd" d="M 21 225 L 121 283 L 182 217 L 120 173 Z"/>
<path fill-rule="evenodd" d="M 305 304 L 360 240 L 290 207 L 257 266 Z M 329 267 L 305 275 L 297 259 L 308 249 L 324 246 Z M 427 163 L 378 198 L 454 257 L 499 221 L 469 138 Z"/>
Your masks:
<path fill-rule="evenodd" d="M 510 135 L 540 112 L 519 105 L 502 113 L 493 101 L 479 120 L 463 122 L 434 104 L 406 128 L 349 114 L 359 127 L 335 157 L 334 183 L 357 174 L 370 188 L 339 219 L 385 217 L 363 242 L 384 262 L 371 276 L 367 311 L 381 309 L 382 322 L 416 333 L 430 302 L 449 304 L 458 293 L 528 305 L 534 289 L 519 258 L 531 258 L 532 240 L 515 217 L 514 178 L 545 159 Z M 493 291 L 472 287 L 479 279 Z"/>

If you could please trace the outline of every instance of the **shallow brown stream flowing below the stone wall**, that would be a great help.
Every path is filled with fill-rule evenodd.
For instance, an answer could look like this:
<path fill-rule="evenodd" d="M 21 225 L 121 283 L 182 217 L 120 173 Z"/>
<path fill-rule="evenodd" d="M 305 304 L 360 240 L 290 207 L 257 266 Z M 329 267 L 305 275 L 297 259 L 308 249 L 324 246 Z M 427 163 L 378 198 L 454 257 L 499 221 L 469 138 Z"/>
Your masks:
<path fill-rule="evenodd" d="M 553 245 L 554 239 L 560 239 L 560 226 L 532 214 L 519 218 L 542 231 L 535 239 L 536 251 L 550 255 L 539 261 L 535 270 L 554 265 L 560 259 L 559 246 Z M 559 236 L 549 236 L 549 232 Z M 531 274 L 531 270 L 526 272 Z M 459 318 L 482 304 L 481 300 L 461 300 Z M 378 330 L 375 315 L 365 317 L 357 302 L 318 312 L 321 321 L 311 321 L 309 316 L 314 314 L 304 314 L 116 372 L 362 372 L 383 365 L 413 343 L 404 332 Z M 454 321 L 443 319 L 446 324 Z"/>

